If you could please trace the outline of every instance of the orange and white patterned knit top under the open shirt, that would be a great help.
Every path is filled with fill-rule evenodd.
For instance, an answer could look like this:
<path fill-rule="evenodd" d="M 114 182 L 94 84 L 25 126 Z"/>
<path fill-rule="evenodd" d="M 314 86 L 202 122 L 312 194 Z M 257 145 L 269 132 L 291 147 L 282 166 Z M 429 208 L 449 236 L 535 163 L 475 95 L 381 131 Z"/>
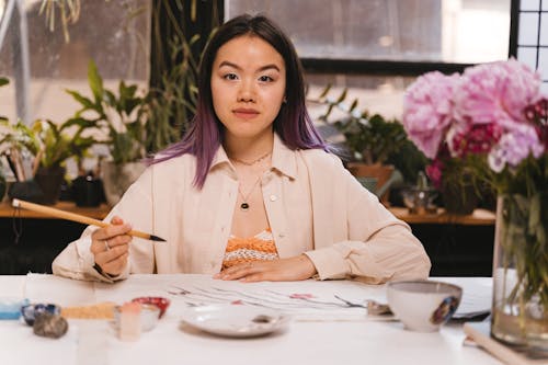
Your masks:
<path fill-rule="evenodd" d="M 238 238 L 231 235 L 225 251 L 222 270 L 242 262 L 267 261 L 277 258 L 274 236 L 270 228 L 249 238 Z"/>

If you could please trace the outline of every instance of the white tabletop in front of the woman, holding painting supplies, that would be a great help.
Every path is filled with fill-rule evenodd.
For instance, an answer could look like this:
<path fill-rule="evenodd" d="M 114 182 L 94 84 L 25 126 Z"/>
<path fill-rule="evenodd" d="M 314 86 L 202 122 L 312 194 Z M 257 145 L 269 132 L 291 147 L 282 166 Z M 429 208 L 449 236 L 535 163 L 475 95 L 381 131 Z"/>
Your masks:
<path fill-rule="evenodd" d="M 489 301 L 491 278 L 443 278 L 464 287 L 463 305 Z M 172 304 L 159 324 L 137 342 L 122 342 L 106 321 L 69 320 L 68 333 L 52 340 L 36 337 L 20 321 L 0 321 L 1 364 L 501 364 L 475 346 L 464 346 L 461 326 L 435 333 L 404 330 L 397 321 L 368 319 L 362 309 L 295 309 L 288 330 L 262 338 L 228 339 L 206 334 L 180 321 L 186 303 L 197 297 L 168 294 L 173 286 L 197 293 L 212 287 L 259 298 L 261 290 L 312 293 L 320 301 L 343 298 L 384 300 L 385 287 L 358 282 L 295 282 L 242 284 L 203 275 L 134 275 L 114 285 L 69 281 L 52 275 L 0 276 L 0 296 L 59 305 L 122 304 L 137 296 L 162 295 Z M 269 292 L 269 293 L 270 293 Z M 210 292 L 207 292 L 210 294 Z M 228 293 L 228 292 L 227 292 Z M 215 295 L 216 296 L 216 295 Z M 250 299 L 255 300 L 255 299 Z M 332 299 L 330 299 L 332 300 Z M 336 300 L 335 300 L 336 301 Z"/>

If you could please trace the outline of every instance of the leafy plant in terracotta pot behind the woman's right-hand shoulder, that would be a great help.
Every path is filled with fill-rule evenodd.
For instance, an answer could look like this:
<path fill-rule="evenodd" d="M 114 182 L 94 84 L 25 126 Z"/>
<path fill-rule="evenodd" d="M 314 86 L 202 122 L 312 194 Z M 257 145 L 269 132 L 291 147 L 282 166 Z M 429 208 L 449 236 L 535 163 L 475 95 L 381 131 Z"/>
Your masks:
<path fill-rule="evenodd" d="M 386 119 L 380 114 L 359 111 L 357 99 L 349 105 L 345 102 L 346 89 L 336 99 L 330 98 L 329 92 L 330 85 L 318 99 L 310 101 L 327 106 L 320 119 L 336 128 L 344 137 L 343 150 L 346 156 L 343 157 L 349 160 L 346 168 L 364 185 L 370 184 L 366 187 L 370 187 L 387 204 L 390 184 L 401 178 L 387 161 L 409 142 L 403 126 L 398 119 Z M 334 110 L 342 112 L 342 117 L 333 117 Z"/>

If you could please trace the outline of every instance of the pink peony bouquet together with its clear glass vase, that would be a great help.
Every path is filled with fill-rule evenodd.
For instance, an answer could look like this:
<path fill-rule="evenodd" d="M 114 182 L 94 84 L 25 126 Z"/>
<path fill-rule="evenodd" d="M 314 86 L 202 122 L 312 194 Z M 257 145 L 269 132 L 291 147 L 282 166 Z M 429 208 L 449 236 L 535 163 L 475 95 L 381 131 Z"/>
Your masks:
<path fill-rule="evenodd" d="M 409 87 L 403 125 L 433 159 L 498 193 L 492 334 L 548 350 L 548 100 L 515 59 L 430 72 Z M 455 171 L 453 171 L 455 172 Z"/>

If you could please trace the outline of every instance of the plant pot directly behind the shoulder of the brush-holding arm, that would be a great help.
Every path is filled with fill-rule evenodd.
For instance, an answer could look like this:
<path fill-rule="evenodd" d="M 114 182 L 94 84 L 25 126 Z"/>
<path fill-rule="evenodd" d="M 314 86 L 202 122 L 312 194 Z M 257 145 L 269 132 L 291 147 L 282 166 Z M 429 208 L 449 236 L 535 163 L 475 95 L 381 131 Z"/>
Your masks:
<path fill-rule="evenodd" d="M 142 162 L 127 162 L 116 164 L 112 161 L 101 162 L 101 176 L 103 180 L 104 194 L 109 205 L 116 205 L 122 195 L 145 171 Z"/>

